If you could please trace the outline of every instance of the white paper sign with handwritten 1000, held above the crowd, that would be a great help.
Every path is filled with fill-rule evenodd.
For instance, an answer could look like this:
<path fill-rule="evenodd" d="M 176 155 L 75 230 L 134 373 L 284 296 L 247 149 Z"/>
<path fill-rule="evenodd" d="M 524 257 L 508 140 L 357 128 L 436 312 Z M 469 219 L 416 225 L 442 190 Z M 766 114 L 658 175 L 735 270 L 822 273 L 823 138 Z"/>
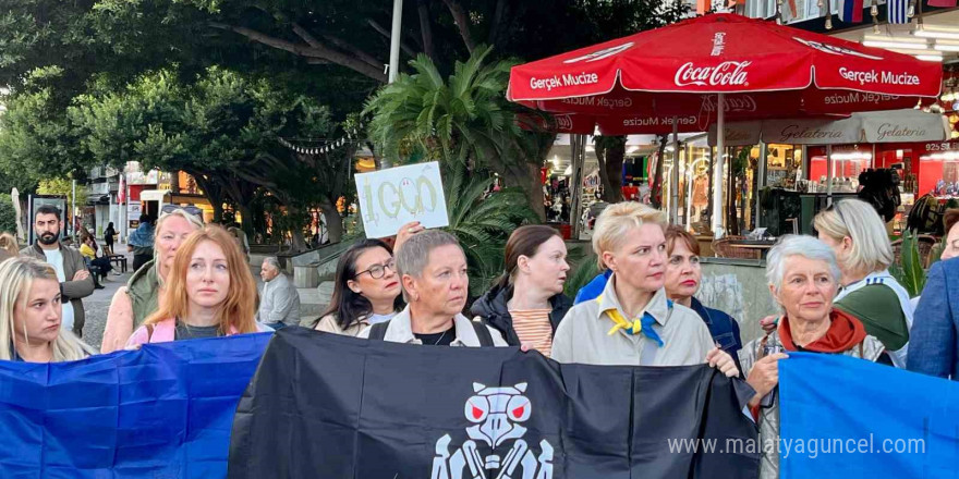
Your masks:
<path fill-rule="evenodd" d="M 411 221 L 426 228 L 449 224 L 435 161 L 357 173 L 356 192 L 366 237 L 392 236 Z"/>

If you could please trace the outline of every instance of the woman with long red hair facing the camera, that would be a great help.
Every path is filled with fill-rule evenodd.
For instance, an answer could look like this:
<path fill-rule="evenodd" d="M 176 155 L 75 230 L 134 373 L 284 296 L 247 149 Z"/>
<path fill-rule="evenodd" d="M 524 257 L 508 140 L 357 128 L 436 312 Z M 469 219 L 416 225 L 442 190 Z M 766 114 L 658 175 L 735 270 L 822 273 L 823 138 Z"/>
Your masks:
<path fill-rule="evenodd" d="M 243 253 L 221 226 L 191 234 L 167 274 L 160 307 L 126 347 L 145 343 L 269 331 L 254 320 L 256 281 Z"/>

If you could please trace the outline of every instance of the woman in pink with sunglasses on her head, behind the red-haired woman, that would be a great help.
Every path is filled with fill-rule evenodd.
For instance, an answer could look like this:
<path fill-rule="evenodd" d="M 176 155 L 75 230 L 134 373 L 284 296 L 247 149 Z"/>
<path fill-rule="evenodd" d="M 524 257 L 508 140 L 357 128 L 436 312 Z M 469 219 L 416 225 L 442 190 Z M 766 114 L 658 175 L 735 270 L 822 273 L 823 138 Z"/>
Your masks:
<path fill-rule="evenodd" d="M 126 286 L 113 295 L 107 312 L 101 353 L 122 349 L 133 330 L 158 309 L 177 249 L 191 233 L 203 228 L 202 213 L 196 207 L 163 207 L 157 221 L 154 260 L 136 270 Z"/>

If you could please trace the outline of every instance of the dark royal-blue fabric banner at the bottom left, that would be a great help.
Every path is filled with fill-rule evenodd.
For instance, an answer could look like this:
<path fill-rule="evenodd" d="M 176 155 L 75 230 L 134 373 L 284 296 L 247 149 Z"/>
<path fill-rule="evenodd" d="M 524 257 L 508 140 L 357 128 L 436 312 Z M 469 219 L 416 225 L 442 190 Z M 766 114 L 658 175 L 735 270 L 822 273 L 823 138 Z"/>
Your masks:
<path fill-rule="evenodd" d="M 270 334 L 0 361 L 0 478 L 217 478 Z"/>

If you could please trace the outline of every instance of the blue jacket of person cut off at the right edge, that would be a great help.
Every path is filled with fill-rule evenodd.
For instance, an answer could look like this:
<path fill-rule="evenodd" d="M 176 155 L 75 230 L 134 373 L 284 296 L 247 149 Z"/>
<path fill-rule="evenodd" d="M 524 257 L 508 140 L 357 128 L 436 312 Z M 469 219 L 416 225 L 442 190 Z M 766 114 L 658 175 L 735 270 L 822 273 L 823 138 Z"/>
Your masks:
<path fill-rule="evenodd" d="M 959 258 L 930 269 L 909 332 L 910 371 L 959 380 Z"/>

